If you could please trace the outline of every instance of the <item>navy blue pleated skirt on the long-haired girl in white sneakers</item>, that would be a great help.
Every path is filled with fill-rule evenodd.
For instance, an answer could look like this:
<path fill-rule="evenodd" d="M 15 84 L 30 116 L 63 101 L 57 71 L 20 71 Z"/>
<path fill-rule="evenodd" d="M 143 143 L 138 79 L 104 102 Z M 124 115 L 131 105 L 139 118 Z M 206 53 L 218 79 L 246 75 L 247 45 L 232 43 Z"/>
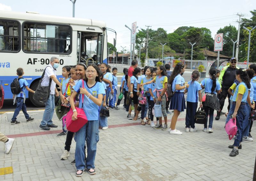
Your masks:
<path fill-rule="evenodd" d="M 170 110 L 184 111 L 186 109 L 186 102 L 184 92 L 175 92 L 170 103 Z"/>

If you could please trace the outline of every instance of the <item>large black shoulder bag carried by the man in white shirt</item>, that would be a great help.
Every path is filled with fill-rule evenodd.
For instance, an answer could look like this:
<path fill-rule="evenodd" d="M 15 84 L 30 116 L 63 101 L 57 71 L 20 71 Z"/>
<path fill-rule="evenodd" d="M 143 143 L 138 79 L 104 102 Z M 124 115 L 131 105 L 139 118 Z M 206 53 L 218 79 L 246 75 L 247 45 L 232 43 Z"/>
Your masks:
<path fill-rule="evenodd" d="M 47 66 L 47 67 L 50 67 L 50 66 Z M 41 83 L 43 81 L 43 78 L 44 78 L 44 73 L 45 73 L 46 68 L 44 69 L 44 72 L 43 72 L 43 74 L 42 74 L 42 76 L 41 76 L 41 78 L 39 80 L 38 86 L 37 86 L 35 94 L 33 96 L 33 98 L 35 100 L 38 100 L 39 102 L 46 102 L 47 99 L 50 96 L 50 93 L 51 93 L 51 90 L 50 90 L 51 89 L 51 83 L 52 83 L 52 79 L 51 78 L 50 78 L 48 86 L 42 86 L 41 85 Z"/>

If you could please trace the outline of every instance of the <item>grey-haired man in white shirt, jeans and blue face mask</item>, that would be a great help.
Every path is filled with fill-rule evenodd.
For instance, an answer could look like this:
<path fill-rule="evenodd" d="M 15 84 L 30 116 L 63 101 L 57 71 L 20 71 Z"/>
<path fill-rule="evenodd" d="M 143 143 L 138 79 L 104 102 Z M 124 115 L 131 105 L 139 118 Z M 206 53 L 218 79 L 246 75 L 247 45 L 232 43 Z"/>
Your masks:
<path fill-rule="evenodd" d="M 51 87 L 50 87 L 50 95 L 45 104 L 45 110 L 43 115 L 43 120 L 41 121 L 40 128 L 43 130 L 50 130 L 51 128 L 57 128 L 55 124 L 52 123 L 52 116 L 55 108 L 55 100 L 54 100 L 54 92 L 56 96 L 59 96 L 59 91 L 56 88 L 56 84 L 61 89 L 61 83 L 58 81 L 56 76 L 56 68 L 59 67 L 60 60 L 57 57 L 52 57 L 50 65 L 45 68 L 45 74 L 42 80 L 42 86 L 48 86 L 50 82 L 50 78 L 52 79 Z"/>

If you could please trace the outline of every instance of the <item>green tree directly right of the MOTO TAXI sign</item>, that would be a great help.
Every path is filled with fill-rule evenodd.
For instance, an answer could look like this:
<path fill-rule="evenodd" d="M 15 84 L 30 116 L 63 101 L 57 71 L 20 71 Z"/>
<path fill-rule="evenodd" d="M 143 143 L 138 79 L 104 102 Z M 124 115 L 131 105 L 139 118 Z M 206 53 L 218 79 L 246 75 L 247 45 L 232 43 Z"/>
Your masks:
<path fill-rule="evenodd" d="M 223 51 L 221 54 L 231 57 L 233 54 L 233 41 L 237 39 L 237 29 L 235 26 L 229 25 L 224 28 L 220 28 L 217 34 L 223 33 Z"/>

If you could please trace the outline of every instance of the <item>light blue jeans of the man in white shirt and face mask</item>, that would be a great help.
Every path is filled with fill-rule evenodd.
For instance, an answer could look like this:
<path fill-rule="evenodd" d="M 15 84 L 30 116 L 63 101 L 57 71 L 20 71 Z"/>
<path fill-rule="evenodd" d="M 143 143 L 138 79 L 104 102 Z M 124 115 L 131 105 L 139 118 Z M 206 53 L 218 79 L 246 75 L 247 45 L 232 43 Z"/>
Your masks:
<path fill-rule="evenodd" d="M 43 120 L 41 121 L 42 126 L 46 126 L 47 124 L 52 124 L 52 116 L 55 108 L 55 100 L 54 94 L 50 94 L 45 104 L 45 110 L 43 115 Z"/>

